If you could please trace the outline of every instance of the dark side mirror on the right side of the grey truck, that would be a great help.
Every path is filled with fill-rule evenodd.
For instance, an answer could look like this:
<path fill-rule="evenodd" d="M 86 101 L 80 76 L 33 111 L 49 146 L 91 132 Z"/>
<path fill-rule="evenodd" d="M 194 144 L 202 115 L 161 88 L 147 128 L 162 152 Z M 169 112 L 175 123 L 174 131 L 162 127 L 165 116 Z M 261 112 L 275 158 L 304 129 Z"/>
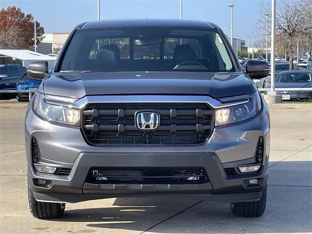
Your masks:
<path fill-rule="evenodd" d="M 246 63 L 246 74 L 252 79 L 267 77 L 270 73 L 269 63 L 262 60 L 248 60 Z"/>

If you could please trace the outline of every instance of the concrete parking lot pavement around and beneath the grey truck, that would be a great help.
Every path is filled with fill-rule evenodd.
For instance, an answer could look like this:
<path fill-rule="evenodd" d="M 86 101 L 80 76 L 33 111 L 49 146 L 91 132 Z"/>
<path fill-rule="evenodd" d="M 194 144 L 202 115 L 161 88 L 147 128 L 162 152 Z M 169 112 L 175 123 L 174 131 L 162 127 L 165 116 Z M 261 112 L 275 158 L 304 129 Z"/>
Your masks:
<path fill-rule="evenodd" d="M 63 218 L 30 215 L 25 104 L 0 103 L 0 233 L 312 233 L 312 104 L 271 106 L 268 201 L 260 218 L 185 198 L 112 198 L 67 204 Z"/>

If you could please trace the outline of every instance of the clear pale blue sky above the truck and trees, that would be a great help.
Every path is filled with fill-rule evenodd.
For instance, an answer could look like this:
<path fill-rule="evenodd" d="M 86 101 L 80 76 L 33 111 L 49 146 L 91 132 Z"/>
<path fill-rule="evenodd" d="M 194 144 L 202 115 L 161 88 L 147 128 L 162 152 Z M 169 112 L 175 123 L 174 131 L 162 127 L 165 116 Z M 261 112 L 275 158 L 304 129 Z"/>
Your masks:
<path fill-rule="evenodd" d="M 100 0 L 101 20 L 125 18 L 180 17 L 180 0 Z M 260 18 L 259 4 L 270 6 L 271 0 L 183 0 L 183 19 L 206 20 L 222 28 L 230 28 L 234 4 L 233 36 L 248 43 Z M 97 0 L 0 0 L 0 8 L 16 5 L 31 13 L 46 33 L 70 32 L 78 23 L 97 20 Z M 229 30 L 224 30 L 229 35 Z"/>

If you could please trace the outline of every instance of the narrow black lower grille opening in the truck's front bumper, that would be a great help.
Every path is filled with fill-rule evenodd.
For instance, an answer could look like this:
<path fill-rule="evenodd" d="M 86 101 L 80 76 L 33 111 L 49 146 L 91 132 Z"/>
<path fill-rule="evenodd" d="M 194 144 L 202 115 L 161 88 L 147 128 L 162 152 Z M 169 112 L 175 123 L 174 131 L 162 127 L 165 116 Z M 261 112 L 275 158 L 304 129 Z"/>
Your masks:
<path fill-rule="evenodd" d="M 208 182 L 203 168 L 92 168 L 93 184 L 200 184 Z"/>

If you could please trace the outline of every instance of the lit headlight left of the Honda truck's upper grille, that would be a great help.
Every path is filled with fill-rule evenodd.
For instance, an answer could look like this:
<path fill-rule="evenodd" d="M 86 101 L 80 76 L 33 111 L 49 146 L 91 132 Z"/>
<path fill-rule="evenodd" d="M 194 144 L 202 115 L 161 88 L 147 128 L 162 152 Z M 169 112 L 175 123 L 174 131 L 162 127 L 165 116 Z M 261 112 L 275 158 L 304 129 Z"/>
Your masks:
<path fill-rule="evenodd" d="M 49 103 L 47 103 L 47 101 Z M 36 113 L 49 120 L 58 123 L 65 123 L 71 125 L 79 125 L 80 123 L 80 111 L 77 109 L 72 109 L 64 107 L 61 102 L 73 103 L 75 98 L 65 98 L 59 96 L 45 95 L 37 93 L 34 101 L 34 109 Z M 52 104 L 52 102 L 55 102 Z"/>

